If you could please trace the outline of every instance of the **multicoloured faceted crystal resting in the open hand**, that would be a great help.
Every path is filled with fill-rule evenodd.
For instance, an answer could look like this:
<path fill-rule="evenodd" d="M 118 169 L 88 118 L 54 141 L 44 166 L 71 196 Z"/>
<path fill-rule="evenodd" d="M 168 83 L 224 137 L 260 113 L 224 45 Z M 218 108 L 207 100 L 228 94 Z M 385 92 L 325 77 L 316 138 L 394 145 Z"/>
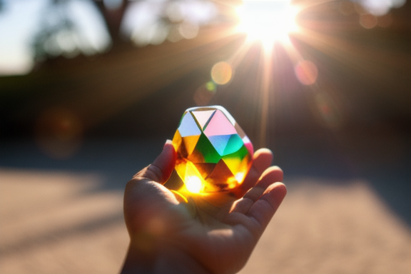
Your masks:
<path fill-rule="evenodd" d="M 230 191 L 243 183 L 253 144 L 222 106 L 188 108 L 173 138 L 176 172 L 187 191 Z"/>

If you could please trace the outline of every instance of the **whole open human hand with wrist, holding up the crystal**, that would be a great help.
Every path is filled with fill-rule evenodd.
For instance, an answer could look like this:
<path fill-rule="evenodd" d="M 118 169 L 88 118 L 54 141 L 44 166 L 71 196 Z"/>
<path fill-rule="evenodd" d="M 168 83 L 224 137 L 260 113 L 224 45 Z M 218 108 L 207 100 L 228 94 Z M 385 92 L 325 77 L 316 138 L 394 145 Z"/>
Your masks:
<path fill-rule="evenodd" d="M 186 203 L 162 184 L 176 163 L 170 141 L 128 182 L 124 218 L 131 241 L 121 273 L 236 273 L 243 268 L 286 194 L 283 171 L 268 149 L 235 193 Z"/>

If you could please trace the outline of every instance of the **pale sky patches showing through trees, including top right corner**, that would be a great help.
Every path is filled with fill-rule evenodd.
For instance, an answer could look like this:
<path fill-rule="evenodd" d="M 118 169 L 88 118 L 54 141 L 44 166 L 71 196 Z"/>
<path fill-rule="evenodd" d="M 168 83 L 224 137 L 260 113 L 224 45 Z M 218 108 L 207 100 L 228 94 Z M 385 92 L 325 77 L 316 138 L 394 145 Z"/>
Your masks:
<path fill-rule="evenodd" d="M 50 1 L 51 0 L 3 0 L 4 8 L 0 11 L 0 76 L 26 74 L 31 71 L 34 62 L 30 44 L 34 35 L 40 30 L 40 26 L 44 23 L 44 20 L 53 17 L 45 14 L 46 6 Z M 151 17 L 155 17 L 156 14 L 152 12 L 152 8 L 153 4 L 157 1 L 158 0 L 143 0 L 136 2 L 136 4 L 131 5 L 131 7 L 138 8 L 138 11 L 144 11 L 143 8 L 144 5 L 146 5 L 146 7 L 148 6 L 150 9 L 149 12 L 144 11 L 146 15 L 150 14 Z M 405 0 L 356 1 L 360 2 L 371 14 L 375 14 L 376 16 L 386 14 L 390 9 L 405 4 Z M 109 3 L 110 1 L 106 2 Z M 188 9 L 190 8 L 188 2 L 190 2 L 192 9 Z M 180 4 L 180 6 L 178 6 L 179 9 L 187 8 L 189 12 L 186 16 L 193 15 L 198 17 L 198 15 L 204 14 L 205 11 L 209 11 L 208 17 L 211 18 L 213 14 L 215 14 L 215 11 L 212 9 L 213 7 L 207 5 L 205 1 L 181 0 L 176 1 L 175 4 Z M 196 5 L 193 6 L 193 4 Z M 170 7 L 176 8 L 176 5 L 171 5 Z M 74 36 L 73 34 L 66 34 L 65 36 L 60 35 L 54 37 L 54 41 L 52 41 L 54 45 L 51 46 L 54 46 L 54 49 L 56 49 L 57 45 L 57 47 L 66 48 L 66 50 L 79 48 L 83 54 L 94 54 L 107 49 L 110 44 L 110 38 L 102 23 L 100 14 L 93 9 L 91 2 L 87 0 L 72 0 L 69 1 L 67 8 L 66 11 L 68 11 L 68 15 L 76 24 L 79 33 L 76 33 Z M 201 11 L 201 13 L 196 14 L 194 11 L 197 10 Z M 183 10 L 179 12 L 181 13 L 182 11 Z M 150 44 L 150 41 L 140 41 L 149 33 L 146 24 L 136 22 L 136 19 L 141 19 L 144 16 L 136 16 L 136 12 L 132 15 L 133 16 L 126 16 L 126 19 L 128 19 L 126 23 L 131 22 L 131 24 L 133 24 L 132 29 L 134 30 L 131 31 L 131 39 L 134 38 L 134 42 L 138 45 L 141 44 L 141 46 Z M 130 18 L 133 20 L 129 20 Z M 207 20 L 208 19 L 209 18 L 207 18 Z M 197 29 L 198 25 L 202 23 L 197 19 L 196 21 L 188 21 L 191 23 L 194 22 Z M 138 31 L 137 25 L 143 26 L 143 32 L 140 31 L 138 36 L 133 37 L 133 32 Z M 193 29 L 192 26 L 193 24 L 191 24 L 191 29 Z M 164 33 L 165 36 L 161 41 L 167 36 L 166 32 Z M 70 42 L 70 39 L 71 44 L 67 43 Z M 59 54 L 59 51 L 57 51 L 56 54 Z"/>

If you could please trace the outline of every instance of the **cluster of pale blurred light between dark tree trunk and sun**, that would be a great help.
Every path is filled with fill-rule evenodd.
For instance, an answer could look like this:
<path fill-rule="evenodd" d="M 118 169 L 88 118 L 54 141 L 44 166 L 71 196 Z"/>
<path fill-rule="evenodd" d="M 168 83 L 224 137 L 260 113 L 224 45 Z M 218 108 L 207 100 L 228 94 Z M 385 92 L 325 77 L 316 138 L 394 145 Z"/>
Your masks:
<path fill-rule="evenodd" d="M 131 1 L 121 31 L 136 46 L 193 39 L 217 14 L 212 1 Z"/>

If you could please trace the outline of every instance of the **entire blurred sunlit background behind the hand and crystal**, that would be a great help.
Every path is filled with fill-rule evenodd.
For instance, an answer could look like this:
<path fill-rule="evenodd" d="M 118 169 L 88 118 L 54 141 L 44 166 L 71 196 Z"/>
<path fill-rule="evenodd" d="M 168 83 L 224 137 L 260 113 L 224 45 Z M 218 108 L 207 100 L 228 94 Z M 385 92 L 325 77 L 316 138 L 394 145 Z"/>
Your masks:
<path fill-rule="evenodd" d="M 411 273 L 411 2 L 0 0 L 0 273 L 116 273 L 186 108 L 283 168 L 241 273 Z"/>

